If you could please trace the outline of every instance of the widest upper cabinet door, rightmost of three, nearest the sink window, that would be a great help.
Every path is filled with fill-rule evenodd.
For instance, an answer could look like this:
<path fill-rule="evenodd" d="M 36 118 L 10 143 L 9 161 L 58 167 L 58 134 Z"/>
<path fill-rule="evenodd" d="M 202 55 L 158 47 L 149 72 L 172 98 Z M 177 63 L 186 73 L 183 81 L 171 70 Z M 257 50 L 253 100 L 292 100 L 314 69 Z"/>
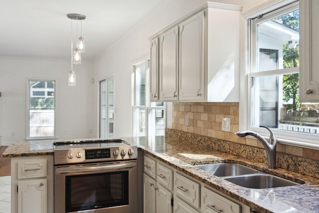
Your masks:
<path fill-rule="evenodd" d="M 179 24 L 179 100 L 204 98 L 204 12 Z"/>

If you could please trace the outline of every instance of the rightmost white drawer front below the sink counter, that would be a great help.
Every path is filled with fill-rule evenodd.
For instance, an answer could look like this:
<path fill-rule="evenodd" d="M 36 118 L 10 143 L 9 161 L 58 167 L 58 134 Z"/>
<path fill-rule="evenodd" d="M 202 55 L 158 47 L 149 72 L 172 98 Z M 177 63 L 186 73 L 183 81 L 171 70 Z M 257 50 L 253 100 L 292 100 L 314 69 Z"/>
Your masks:
<path fill-rule="evenodd" d="M 201 209 L 203 213 L 240 213 L 238 204 L 202 187 Z"/>

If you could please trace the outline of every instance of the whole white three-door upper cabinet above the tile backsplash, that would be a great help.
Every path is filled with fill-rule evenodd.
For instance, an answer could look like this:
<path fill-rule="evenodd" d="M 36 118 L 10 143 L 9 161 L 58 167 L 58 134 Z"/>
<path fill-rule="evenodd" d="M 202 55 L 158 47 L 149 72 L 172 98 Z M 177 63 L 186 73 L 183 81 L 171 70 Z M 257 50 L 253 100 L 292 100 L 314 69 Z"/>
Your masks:
<path fill-rule="evenodd" d="M 151 84 L 158 82 L 160 91 L 151 100 L 238 102 L 240 10 L 207 2 L 150 38 L 151 61 L 159 62 L 151 66 L 159 73 L 159 79 L 151 74 Z M 156 39 L 159 54 L 152 49 Z"/>

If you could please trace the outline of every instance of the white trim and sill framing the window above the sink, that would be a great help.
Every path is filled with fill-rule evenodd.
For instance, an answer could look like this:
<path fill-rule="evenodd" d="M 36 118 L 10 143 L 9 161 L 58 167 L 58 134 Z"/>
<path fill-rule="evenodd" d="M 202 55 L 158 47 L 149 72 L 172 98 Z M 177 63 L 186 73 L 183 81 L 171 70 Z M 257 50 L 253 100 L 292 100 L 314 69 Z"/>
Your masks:
<path fill-rule="evenodd" d="M 272 11 L 276 8 L 285 6 L 287 4 L 296 2 L 296 0 L 269 0 L 263 4 L 260 4 L 252 9 L 243 11 L 241 15 L 245 18 L 246 24 L 243 24 L 245 29 L 243 30 L 243 37 L 245 38 L 244 43 L 244 54 L 242 54 L 241 61 L 245 61 L 244 64 L 241 65 L 240 69 L 240 96 L 239 96 L 239 130 L 251 130 L 255 131 L 265 138 L 269 137 L 269 132 L 263 128 L 254 128 L 250 126 L 251 121 L 251 92 L 248 90 L 250 88 L 250 78 L 252 76 L 257 76 L 258 73 L 251 73 L 250 74 L 250 67 L 251 67 L 251 55 L 250 55 L 250 24 L 249 19 L 257 17 L 259 14 L 263 14 L 269 11 Z M 296 68 L 292 68 L 296 69 Z M 290 70 L 290 71 L 292 71 Z M 299 70 L 299 68 L 298 68 Z M 274 71 L 269 71 L 267 74 L 272 74 Z M 278 73 L 278 70 L 277 70 Z M 319 150 L 319 136 L 314 134 L 307 134 L 301 132 L 293 132 L 293 131 L 284 131 L 284 130 L 276 130 L 272 129 L 274 132 L 278 143 L 298 146 L 303 148 L 309 149 L 316 149 Z M 297 139 L 297 140 L 296 140 Z"/>

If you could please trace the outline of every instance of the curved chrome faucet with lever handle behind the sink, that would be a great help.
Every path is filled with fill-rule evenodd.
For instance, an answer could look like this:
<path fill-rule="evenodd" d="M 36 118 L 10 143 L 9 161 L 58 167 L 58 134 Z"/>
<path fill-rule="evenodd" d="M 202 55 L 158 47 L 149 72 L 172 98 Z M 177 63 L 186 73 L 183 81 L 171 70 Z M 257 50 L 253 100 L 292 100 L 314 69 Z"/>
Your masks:
<path fill-rule="evenodd" d="M 275 169 L 276 168 L 276 137 L 272 133 L 272 131 L 266 127 L 266 126 L 259 126 L 264 127 L 270 132 L 270 136 L 268 141 L 265 140 L 261 135 L 257 134 L 256 132 L 252 132 L 249 130 L 239 131 L 235 134 L 239 137 L 246 137 L 247 135 L 253 136 L 258 139 L 262 143 L 262 145 L 265 147 L 267 156 L 268 156 L 268 168 L 269 169 Z"/>

